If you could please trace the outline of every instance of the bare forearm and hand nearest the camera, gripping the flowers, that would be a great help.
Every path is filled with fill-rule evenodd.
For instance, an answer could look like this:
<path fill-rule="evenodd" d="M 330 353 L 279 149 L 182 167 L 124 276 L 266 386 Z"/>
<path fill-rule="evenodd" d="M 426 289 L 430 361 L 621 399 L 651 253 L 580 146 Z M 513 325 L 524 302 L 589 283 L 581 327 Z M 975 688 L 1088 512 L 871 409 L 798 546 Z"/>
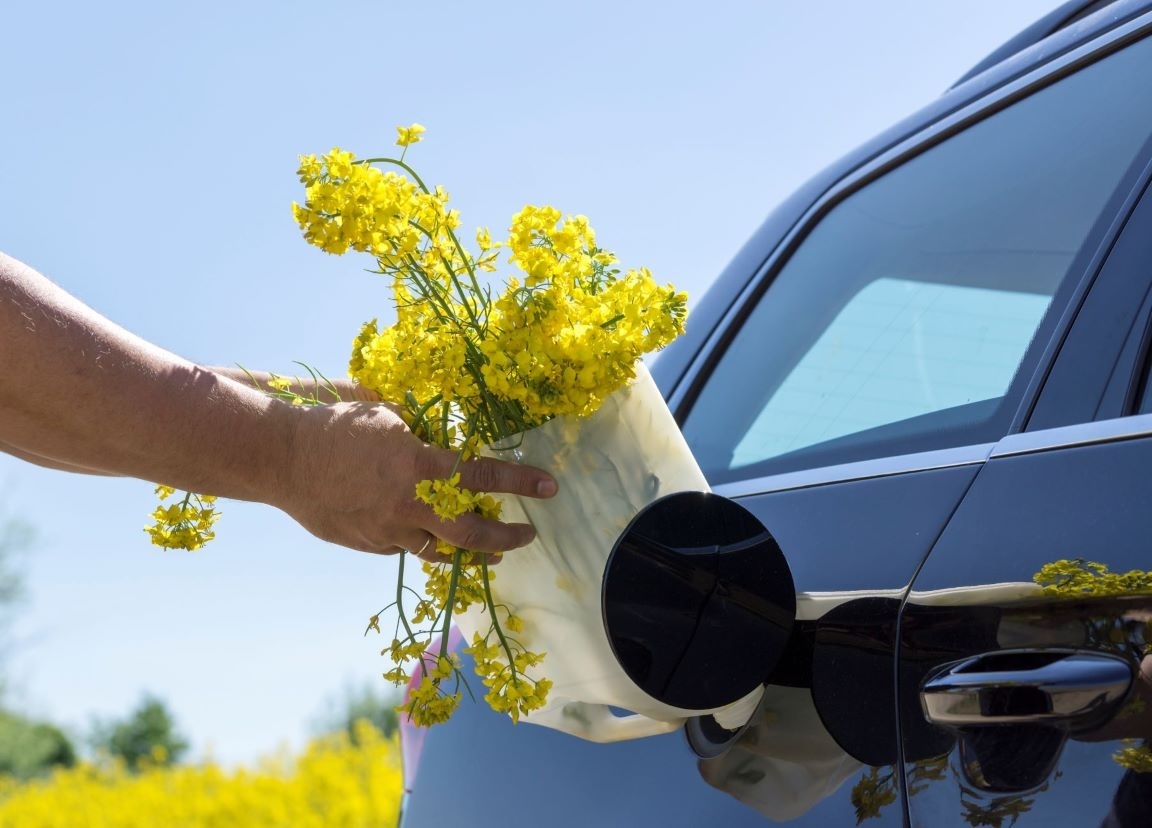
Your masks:
<path fill-rule="evenodd" d="M 44 465 L 122 474 L 282 509 L 319 538 L 365 552 L 430 535 L 478 550 L 523 546 L 530 526 L 444 523 L 414 496 L 455 454 L 388 407 L 275 400 L 111 322 L 0 253 L 0 448 Z M 461 485 L 547 496 L 546 473 L 469 462 Z"/>

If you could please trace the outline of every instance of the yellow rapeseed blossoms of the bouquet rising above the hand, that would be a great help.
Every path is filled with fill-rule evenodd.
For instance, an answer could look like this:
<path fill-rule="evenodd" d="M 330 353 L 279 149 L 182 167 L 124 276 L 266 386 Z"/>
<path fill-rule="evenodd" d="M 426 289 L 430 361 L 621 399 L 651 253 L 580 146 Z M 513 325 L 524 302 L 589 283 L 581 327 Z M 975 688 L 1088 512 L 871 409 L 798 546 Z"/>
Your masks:
<path fill-rule="evenodd" d="M 448 193 L 400 159 L 357 162 L 336 149 L 303 158 L 300 176 L 304 237 L 331 253 L 371 253 L 393 280 L 396 322 L 363 327 L 353 378 L 385 400 L 415 400 L 439 445 L 475 448 L 559 415 L 586 416 L 635 377 L 644 354 L 683 332 L 684 294 L 644 268 L 621 274 L 582 215 L 524 207 L 507 241 L 480 229 L 473 256 Z M 497 268 L 501 248 L 521 275 L 493 298 L 477 273 Z M 444 407 L 452 416 L 427 416 Z"/>

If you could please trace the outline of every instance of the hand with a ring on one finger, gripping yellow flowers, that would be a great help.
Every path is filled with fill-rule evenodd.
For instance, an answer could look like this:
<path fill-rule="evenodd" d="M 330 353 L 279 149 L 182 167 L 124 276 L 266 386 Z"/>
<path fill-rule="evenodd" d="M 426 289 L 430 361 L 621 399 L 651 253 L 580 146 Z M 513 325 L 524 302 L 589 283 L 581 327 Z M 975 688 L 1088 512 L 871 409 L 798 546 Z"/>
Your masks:
<path fill-rule="evenodd" d="M 444 560 L 435 539 L 480 553 L 529 544 L 535 530 L 478 515 L 441 521 L 416 499 L 416 484 L 453 473 L 456 453 L 430 446 L 387 405 L 364 402 L 296 408 L 290 477 L 270 500 L 323 540 L 362 552 L 410 549 Z M 546 472 L 493 458 L 460 468 L 460 485 L 477 492 L 551 497 Z"/>

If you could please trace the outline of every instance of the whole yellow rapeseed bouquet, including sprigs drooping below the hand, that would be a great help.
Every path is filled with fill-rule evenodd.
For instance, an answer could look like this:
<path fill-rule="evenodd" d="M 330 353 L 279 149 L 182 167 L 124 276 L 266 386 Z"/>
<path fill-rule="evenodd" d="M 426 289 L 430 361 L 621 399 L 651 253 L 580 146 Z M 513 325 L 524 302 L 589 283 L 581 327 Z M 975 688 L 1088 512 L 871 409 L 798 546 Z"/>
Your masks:
<path fill-rule="evenodd" d="M 586 218 L 551 206 L 521 210 L 502 240 L 480 228 L 475 251 L 465 249 L 447 191 L 427 187 L 404 162 L 424 128 L 397 132 L 399 158 L 359 160 L 341 149 L 303 155 L 304 202 L 293 213 L 308 242 L 329 253 L 365 253 L 391 281 L 396 320 L 362 327 L 349 373 L 402 403 L 418 436 L 457 451 L 454 473 L 420 483 L 415 495 L 442 521 L 499 517 L 495 499 L 460 485 L 462 465 L 482 447 L 554 417 L 596 411 L 635 377 L 645 354 L 683 332 L 687 297 L 647 269 L 622 272 Z M 500 271 L 502 253 L 514 271 L 494 289 L 488 274 Z M 545 654 L 516 638 L 520 620 L 494 601 L 486 559 L 442 541 L 437 549 L 442 560 L 423 564 L 426 585 L 415 607 L 406 607 L 415 591 L 401 575 L 386 608 L 400 616 L 382 651 L 396 664 L 386 676 L 397 684 L 416 676 L 404 711 L 431 724 L 455 709 L 461 676 L 447 631 L 453 615 L 472 606 L 486 608 L 491 621 L 487 636 L 467 647 L 486 700 L 514 720 L 539 708 L 551 682 L 532 668 Z M 369 628 L 379 631 L 379 615 Z"/>

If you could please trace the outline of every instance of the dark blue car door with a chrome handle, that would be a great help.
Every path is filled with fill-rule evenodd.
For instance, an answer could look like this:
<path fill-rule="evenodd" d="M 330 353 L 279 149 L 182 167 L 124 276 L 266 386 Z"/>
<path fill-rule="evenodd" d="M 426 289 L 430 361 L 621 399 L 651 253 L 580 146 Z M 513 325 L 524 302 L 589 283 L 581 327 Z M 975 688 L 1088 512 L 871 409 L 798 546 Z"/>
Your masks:
<path fill-rule="evenodd" d="M 1120 99 L 1109 76 L 1129 64 L 1152 84 L 1146 37 L 1093 58 L 1068 79 Z M 1147 162 L 1101 218 L 1024 428 L 993 447 L 901 611 L 892 770 L 914 826 L 1152 825 Z"/>

